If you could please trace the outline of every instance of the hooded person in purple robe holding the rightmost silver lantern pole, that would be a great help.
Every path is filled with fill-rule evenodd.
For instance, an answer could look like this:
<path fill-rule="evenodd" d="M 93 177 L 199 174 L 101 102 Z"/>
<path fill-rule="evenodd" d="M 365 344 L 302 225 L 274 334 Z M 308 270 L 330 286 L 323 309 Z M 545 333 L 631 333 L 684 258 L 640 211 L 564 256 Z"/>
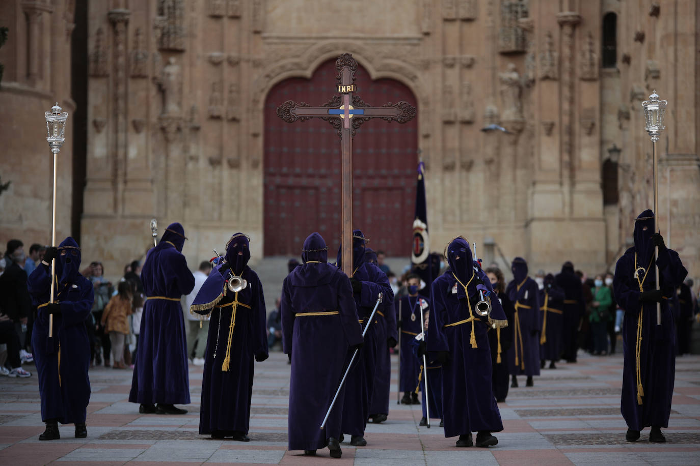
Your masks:
<path fill-rule="evenodd" d="M 643 227 L 647 227 L 644 231 Z M 649 426 L 668 427 L 675 378 L 675 319 L 668 300 L 661 300 L 661 325 L 657 325 L 657 303 L 640 301 L 644 291 L 656 289 L 654 267 L 664 297 L 673 296 L 687 270 L 671 249 L 658 253 L 654 263 L 654 213 L 642 212 L 634 224 L 634 247 L 626 250 L 615 266 L 612 286 L 615 299 L 624 309 L 622 348 L 622 401 L 620 411 L 631 430 Z M 644 268 L 644 270 L 638 270 Z M 635 272 L 638 270 L 637 277 Z M 641 284 L 640 284 L 641 283 Z"/>

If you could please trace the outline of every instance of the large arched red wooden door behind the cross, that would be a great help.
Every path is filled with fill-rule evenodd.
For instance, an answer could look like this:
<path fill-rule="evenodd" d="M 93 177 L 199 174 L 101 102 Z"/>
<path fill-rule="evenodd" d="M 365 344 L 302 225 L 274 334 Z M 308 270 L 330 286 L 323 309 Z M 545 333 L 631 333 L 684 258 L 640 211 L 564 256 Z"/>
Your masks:
<path fill-rule="evenodd" d="M 336 93 L 335 59 L 319 66 L 311 79 L 290 78 L 273 87 L 265 100 L 265 255 L 299 256 L 304 239 L 318 231 L 328 243 L 329 260 L 340 245 L 340 139 L 318 118 L 283 122 L 276 108 L 284 101 L 320 105 Z M 367 105 L 407 101 L 402 83 L 370 80 L 356 71 L 358 94 Z M 372 249 L 409 256 L 414 203 L 418 122 L 365 122 L 353 139 L 353 228 Z"/>

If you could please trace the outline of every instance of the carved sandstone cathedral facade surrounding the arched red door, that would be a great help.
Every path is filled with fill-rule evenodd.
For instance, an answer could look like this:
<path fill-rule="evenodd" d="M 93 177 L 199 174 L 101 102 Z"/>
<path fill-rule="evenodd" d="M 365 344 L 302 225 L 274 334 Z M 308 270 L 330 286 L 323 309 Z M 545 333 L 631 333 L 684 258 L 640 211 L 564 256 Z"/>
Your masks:
<path fill-rule="evenodd" d="M 66 47 L 75 2 L 3 3 L 0 17 L 29 31 L 29 43 L 0 48 L 0 103 L 19 117 L 11 126 L 8 112 L 0 115 L 5 140 L 10 127 L 36 126 L 25 109 L 43 116 L 58 100 L 71 111 L 70 69 L 49 51 Z M 29 3 L 45 3 L 38 23 Z M 153 217 L 162 227 L 184 224 L 193 267 L 235 231 L 251 235 L 260 258 L 267 94 L 350 52 L 372 80 L 398 81 L 415 98 L 430 249 L 461 234 L 486 263 L 524 256 L 531 272 L 557 271 L 566 260 L 603 272 L 629 247 L 633 217 L 652 206 L 641 102 L 656 89 L 669 101 L 659 141 L 661 233 L 690 276 L 700 276 L 694 0 L 88 3 L 80 240 L 83 257 L 101 259 L 114 275 L 148 247 Z M 507 132 L 484 131 L 489 125 Z M 48 152 L 41 135 L 27 144 Z M 18 180 L 0 196 L 3 229 L 15 235 L 50 228 L 48 165 L 41 180 L 38 155 L 18 170 L 23 147 L 13 141 L 12 158 L 6 151 L 0 162 L 2 179 Z M 64 172 L 67 185 L 71 170 Z M 409 236 L 407 226 L 407 246 Z"/>

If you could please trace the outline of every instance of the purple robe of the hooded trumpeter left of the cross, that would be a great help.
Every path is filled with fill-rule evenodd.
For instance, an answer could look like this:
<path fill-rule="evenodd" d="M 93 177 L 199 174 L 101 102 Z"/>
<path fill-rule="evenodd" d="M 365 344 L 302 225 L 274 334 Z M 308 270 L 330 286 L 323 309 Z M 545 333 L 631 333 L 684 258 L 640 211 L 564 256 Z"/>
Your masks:
<path fill-rule="evenodd" d="M 222 265 L 218 265 L 211 270 L 207 282 L 211 280 L 211 282 L 223 284 L 221 267 Z M 241 305 L 237 307 L 228 371 L 223 371 L 222 368 L 233 316 L 233 307 L 230 303 L 234 301 L 236 293 L 226 289 L 225 296 L 211 311 L 207 352 L 204 355 L 204 374 L 202 374 L 200 402 L 200 434 L 202 435 L 211 434 L 214 431 L 223 431 L 225 435 L 232 435 L 234 430 L 248 432 L 255 373 L 253 358 L 255 361 L 262 362 L 268 357 L 265 330 L 267 310 L 262 284 L 258 275 L 248 265 L 243 267 L 243 272 L 239 276 L 245 279 L 248 285 L 243 291 L 239 291 L 238 302 L 251 308 Z M 228 271 L 225 275 L 228 278 Z M 219 290 L 221 293 L 221 288 Z M 199 299 L 198 293 L 193 305 L 196 305 Z"/>

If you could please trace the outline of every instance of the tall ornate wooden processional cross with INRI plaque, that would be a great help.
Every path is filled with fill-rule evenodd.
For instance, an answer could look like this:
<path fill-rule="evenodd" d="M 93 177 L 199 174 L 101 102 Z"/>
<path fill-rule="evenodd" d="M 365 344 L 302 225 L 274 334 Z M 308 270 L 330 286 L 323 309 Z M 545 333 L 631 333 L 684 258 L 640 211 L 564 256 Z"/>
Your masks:
<path fill-rule="evenodd" d="M 342 145 L 342 253 L 343 272 L 352 277 L 352 138 L 361 124 L 370 118 L 381 118 L 387 122 L 409 122 L 416 116 L 416 108 L 405 101 L 386 103 L 381 107 L 370 107 L 355 94 L 355 71 L 357 61 L 344 53 L 335 61 L 338 71 L 335 95 L 323 105 L 311 107 L 308 103 L 286 101 L 277 108 L 277 116 L 285 122 L 301 122 L 319 117 L 337 129 Z"/>

